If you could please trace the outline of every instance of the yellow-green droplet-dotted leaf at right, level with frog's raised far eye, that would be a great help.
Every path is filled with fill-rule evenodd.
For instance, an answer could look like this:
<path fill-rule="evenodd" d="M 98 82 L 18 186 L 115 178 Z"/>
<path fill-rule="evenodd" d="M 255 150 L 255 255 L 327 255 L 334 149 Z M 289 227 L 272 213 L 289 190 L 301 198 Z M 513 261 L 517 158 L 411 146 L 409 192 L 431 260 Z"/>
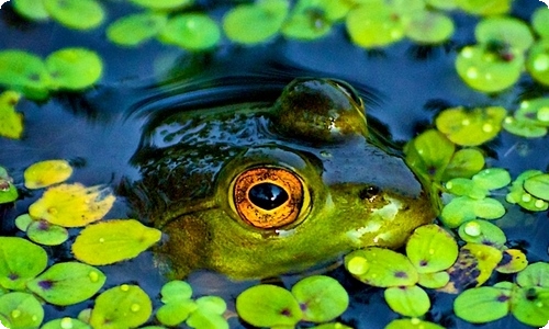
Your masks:
<path fill-rule="evenodd" d="M 495 136 L 501 131 L 507 111 L 500 106 L 467 111 L 455 107 L 442 111 L 435 123 L 438 131 L 458 145 L 477 146 Z"/>

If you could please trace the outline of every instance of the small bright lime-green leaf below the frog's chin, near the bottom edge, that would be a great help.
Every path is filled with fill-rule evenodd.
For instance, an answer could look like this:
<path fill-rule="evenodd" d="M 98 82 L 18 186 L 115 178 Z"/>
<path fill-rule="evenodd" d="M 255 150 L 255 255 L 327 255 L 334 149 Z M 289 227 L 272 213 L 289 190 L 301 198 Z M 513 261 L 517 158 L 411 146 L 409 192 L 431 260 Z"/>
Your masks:
<path fill-rule="evenodd" d="M 429 296 L 417 285 L 389 287 L 384 296 L 389 307 L 403 316 L 421 317 L 430 308 Z"/>

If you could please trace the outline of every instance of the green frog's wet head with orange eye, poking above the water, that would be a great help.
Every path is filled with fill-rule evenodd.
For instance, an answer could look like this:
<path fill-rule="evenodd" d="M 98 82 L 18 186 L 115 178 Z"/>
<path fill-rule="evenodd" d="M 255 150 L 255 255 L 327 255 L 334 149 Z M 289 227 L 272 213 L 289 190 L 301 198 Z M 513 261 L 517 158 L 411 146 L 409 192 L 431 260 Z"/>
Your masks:
<path fill-rule="evenodd" d="M 401 151 L 367 124 L 347 82 L 296 78 L 273 102 L 154 112 L 128 196 L 164 239 L 171 279 L 302 273 L 352 250 L 402 247 L 434 220 Z"/>

